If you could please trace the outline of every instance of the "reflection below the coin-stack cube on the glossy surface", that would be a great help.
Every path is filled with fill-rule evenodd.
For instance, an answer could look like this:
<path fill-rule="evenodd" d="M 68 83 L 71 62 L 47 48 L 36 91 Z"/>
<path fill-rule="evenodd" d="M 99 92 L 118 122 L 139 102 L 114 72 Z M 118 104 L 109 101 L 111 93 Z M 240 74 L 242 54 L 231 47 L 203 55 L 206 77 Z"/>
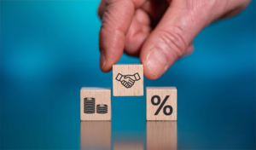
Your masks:
<path fill-rule="evenodd" d="M 111 149 L 111 121 L 81 121 L 81 149 Z"/>

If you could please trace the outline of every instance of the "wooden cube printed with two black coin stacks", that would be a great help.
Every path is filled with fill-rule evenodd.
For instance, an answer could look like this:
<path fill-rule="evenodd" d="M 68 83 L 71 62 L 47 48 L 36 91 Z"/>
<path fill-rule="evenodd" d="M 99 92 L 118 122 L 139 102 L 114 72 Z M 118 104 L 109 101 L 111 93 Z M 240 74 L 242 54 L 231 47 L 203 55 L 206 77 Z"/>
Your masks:
<path fill-rule="evenodd" d="M 111 120 L 111 89 L 82 88 L 80 117 L 81 120 Z"/>

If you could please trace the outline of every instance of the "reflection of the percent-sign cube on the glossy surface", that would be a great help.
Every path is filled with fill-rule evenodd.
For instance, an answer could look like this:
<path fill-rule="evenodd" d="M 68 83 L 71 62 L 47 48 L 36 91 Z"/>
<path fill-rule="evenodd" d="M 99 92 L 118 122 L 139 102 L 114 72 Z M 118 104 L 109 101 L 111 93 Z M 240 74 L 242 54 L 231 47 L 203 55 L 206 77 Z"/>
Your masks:
<path fill-rule="evenodd" d="M 177 149 L 177 121 L 148 121 L 147 150 Z"/>

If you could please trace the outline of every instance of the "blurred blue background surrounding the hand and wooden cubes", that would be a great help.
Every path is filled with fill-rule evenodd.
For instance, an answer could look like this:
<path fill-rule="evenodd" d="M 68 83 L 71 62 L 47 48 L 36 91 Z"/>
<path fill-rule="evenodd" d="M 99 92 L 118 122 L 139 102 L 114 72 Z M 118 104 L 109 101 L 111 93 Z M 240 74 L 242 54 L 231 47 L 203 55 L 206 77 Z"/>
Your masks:
<path fill-rule="evenodd" d="M 112 72 L 99 68 L 98 3 L 1 1 L 2 149 L 79 148 L 80 88 L 112 87 Z M 255 4 L 208 26 L 193 55 L 145 79 L 144 88 L 177 87 L 179 148 L 255 148 Z M 112 141 L 145 142 L 145 103 L 112 96 Z"/>

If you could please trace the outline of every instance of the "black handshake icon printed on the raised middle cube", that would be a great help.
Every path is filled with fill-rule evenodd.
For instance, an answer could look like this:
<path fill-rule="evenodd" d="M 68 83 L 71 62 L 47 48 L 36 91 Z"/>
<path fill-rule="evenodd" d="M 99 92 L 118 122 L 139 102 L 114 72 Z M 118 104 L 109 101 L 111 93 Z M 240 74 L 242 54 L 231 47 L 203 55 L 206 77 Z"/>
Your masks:
<path fill-rule="evenodd" d="M 122 75 L 119 73 L 115 79 L 121 82 L 121 84 L 123 84 L 125 88 L 129 89 L 132 87 L 135 81 L 140 80 L 141 78 L 138 73 L 135 73 L 133 75 Z"/>

